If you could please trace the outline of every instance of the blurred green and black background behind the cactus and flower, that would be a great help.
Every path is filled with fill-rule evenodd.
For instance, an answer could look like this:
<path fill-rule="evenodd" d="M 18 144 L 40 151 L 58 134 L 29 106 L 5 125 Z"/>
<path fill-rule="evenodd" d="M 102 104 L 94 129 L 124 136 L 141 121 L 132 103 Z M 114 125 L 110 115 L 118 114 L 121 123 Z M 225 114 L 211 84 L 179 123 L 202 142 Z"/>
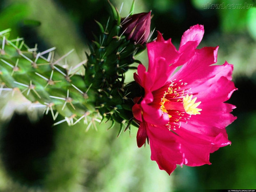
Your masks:
<path fill-rule="evenodd" d="M 112 0 L 121 15 L 129 14 L 132 0 Z M 123 5 L 122 5 L 123 3 Z M 178 167 L 168 176 L 150 160 L 150 147 L 138 148 L 137 128 L 116 138 L 110 122 L 52 127 L 51 116 L 32 118 L 29 111 L 12 115 L 11 100 L 2 97 L 0 109 L 0 191 L 198 191 L 256 188 L 256 7 L 255 1 L 136 0 L 135 13 L 152 10 L 152 29 L 179 45 L 190 26 L 202 24 L 200 44 L 220 46 L 218 64 L 234 65 L 236 91 L 228 101 L 237 105 L 238 119 L 227 127 L 231 146 L 210 155 L 212 165 Z M 224 7 L 221 7 L 223 5 Z M 229 8 L 225 8 L 228 6 Z M 236 5 L 238 5 L 236 7 Z M 241 7 L 242 6 L 242 7 Z M 97 31 L 94 19 L 106 23 L 108 1 L 2 0 L 0 31 L 24 37 L 39 51 L 57 47 L 57 55 L 75 49 L 70 65 L 86 59 L 88 42 Z M 156 37 L 156 32 L 153 38 Z M 147 62 L 144 52 L 138 59 Z M 127 79 L 132 80 L 132 71 Z M 8 102 L 8 105 L 5 105 Z M 8 113 L 6 109 L 9 109 Z M 22 111 L 22 110 L 21 110 Z M 61 120 L 61 118 L 59 119 Z"/>

